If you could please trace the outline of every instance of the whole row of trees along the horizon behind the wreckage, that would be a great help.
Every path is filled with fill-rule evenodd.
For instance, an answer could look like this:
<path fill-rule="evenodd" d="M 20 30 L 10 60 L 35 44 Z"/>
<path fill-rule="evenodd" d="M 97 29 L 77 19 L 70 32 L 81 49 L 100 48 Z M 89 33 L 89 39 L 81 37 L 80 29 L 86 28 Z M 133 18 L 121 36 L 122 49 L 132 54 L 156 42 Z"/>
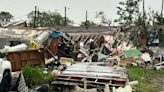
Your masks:
<path fill-rule="evenodd" d="M 159 12 L 149 9 L 148 12 L 140 11 L 139 6 L 143 0 L 126 0 L 121 1 L 117 7 L 118 19 L 113 22 L 119 24 L 124 28 L 130 28 L 131 26 L 155 26 L 163 25 L 164 18 Z M 0 12 L 0 26 L 4 26 L 11 22 L 14 16 L 6 11 Z M 82 21 L 80 26 L 111 26 L 112 20 L 106 16 L 104 11 L 96 12 L 95 18 L 100 20 L 100 23 L 95 23 L 93 21 L 87 20 Z M 66 19 L 66 21 L 65 21 Z M 53 26 L 73 26 L 73 20 L 63 17 L 58 12 L 42 11 L 39 12 L 32 11 L 28 14 L 28 23 L 30 26 L 37 27 L 53 27 Z M 65 23 L 66 22 L 66 23 Z"/>

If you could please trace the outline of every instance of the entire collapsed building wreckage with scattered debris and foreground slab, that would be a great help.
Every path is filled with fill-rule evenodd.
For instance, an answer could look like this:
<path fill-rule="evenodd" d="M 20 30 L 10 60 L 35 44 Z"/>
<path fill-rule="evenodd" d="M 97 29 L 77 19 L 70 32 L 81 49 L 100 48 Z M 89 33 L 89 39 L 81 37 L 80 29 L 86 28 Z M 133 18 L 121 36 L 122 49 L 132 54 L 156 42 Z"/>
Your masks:
<path fill-rule="evenodd" d="M 136 48 L 130 40 L 131 34 L 118 28 L 0 29 L 0 33 L 1 52 L 11 61 L 13 71 L 27 64 L 50 66 L 52 71 L 57 71 L 53 74 L 58 75 L 51 84 L 63 92 L 67 87 L 77 86 L 86 90 L 95 88 L 96 92 L 105 88 L 113 92 L 126 88 L 129 80 L 124 67 L 140 66 L 153 62 L 154 58 L 154 53 Z M 69 53 L 59 47 L 61 43 L 73 46 L 67 50 Z M 160 62 L 156 66 L 163 65 Z"/>

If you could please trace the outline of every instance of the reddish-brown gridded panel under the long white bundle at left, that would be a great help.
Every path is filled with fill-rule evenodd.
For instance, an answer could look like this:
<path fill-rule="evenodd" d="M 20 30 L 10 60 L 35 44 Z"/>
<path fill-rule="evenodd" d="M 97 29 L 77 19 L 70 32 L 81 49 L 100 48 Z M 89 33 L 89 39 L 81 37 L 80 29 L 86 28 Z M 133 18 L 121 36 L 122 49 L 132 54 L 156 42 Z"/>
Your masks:
<path fill-rule="evenodd" d="M 19 71 L 25 65 L 39 65 L 44 62 L 44 49 L 8 52 L 6 58 L 11 62 L 12 71 Z"/>

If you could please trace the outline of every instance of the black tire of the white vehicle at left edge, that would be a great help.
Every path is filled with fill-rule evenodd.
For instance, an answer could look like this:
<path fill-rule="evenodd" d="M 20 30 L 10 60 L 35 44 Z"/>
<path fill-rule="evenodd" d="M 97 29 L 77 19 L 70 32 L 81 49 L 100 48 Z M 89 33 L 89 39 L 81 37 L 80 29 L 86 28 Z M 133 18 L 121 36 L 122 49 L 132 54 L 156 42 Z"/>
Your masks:
<path fill-rule="evenodd" d="M 4 72 L 3 79 L 0 84 L 0 92 L 10 91 L 11 74 L 10 72 Z"/>

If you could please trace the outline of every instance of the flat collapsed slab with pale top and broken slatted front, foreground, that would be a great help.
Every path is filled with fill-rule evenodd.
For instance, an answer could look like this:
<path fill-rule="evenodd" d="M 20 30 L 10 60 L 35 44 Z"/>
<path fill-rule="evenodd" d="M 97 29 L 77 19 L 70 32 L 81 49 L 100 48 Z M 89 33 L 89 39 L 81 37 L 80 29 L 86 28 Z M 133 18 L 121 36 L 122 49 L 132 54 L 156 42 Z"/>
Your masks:
<path fill-rule="evenodd" d="M 125 68 L 112 67 L 104 62 L 77 63 L 64 70 L 52 84 L 63 87 L 80 86 L 86 90 L 90 88 L 104 90 L 105 85 L 110 89 L 125 87 L 128 84 L 128 75 Z"/>

